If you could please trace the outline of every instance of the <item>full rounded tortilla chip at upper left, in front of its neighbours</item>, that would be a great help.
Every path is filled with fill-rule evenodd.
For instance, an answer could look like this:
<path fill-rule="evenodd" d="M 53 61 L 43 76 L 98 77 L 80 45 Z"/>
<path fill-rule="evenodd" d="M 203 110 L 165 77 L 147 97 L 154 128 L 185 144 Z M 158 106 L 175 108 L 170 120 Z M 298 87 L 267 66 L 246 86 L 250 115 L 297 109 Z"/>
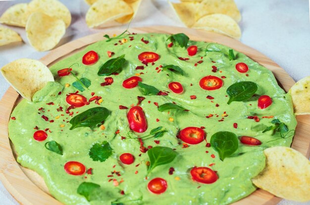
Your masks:
<path fill-rule="evenodd" d="M 66 26 L 61 19 L 35 12 L 30 15 L 26 24 L 29 43 L 38 51 L 54 48 L 65 34 Z"/>

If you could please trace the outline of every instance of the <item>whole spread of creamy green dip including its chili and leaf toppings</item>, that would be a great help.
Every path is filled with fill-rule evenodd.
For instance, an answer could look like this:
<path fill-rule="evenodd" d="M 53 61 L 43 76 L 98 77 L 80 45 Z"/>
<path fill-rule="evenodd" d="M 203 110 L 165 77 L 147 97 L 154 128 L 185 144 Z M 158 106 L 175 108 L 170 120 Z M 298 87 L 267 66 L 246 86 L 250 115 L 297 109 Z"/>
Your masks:
<path fill-rule="evenodd" d="M 244 54 L 184 42 L 130 34 L 54 64 L 55 82 L 11 114 L 17 161 L 66 205 L 226 205 L 250 195 L 263 150 L 291 145 L 291 97 Z"/>

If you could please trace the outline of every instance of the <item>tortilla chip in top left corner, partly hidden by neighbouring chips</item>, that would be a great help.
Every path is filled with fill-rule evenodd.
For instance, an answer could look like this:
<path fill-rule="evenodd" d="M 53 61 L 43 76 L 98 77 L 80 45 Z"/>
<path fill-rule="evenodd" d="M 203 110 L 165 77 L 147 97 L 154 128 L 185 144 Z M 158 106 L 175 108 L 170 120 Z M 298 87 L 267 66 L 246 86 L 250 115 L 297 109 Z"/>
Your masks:
<path fill-rule="evenodd" d="M 0 23 L 25 27 L 29 16 L 27 3 L 17 3 L 9 7 L 0 17 Z"/>

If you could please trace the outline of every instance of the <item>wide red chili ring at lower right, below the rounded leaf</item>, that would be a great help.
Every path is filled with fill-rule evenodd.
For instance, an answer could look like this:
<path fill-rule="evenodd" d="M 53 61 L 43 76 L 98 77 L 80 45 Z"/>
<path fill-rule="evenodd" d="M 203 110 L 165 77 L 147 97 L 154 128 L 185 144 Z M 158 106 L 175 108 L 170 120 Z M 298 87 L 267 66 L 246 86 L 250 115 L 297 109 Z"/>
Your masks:
<path fill-rule="evenodd" d="M 208 167 L 194 167 L 191 175 L 194 181 L 204 184 L 212 184 L 218 179 L 217 174 Z"/>

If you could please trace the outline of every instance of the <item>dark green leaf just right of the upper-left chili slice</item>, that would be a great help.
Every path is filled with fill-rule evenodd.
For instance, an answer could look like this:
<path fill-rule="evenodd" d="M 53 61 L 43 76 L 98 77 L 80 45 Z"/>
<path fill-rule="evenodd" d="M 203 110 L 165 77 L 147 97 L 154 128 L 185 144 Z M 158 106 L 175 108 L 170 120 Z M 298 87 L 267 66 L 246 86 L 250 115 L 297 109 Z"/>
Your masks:
<path fill-rule="evenodd" d="M 110 75 L 113 72 L 119 71 L 122 69 L 124 64 L 126 63 L 126 60 L 124 59 L 125 55 L 122 55 L 120 57 L 110 59 L 107 62 L 105 62 L 98 71 L 98 75 Z"/>

